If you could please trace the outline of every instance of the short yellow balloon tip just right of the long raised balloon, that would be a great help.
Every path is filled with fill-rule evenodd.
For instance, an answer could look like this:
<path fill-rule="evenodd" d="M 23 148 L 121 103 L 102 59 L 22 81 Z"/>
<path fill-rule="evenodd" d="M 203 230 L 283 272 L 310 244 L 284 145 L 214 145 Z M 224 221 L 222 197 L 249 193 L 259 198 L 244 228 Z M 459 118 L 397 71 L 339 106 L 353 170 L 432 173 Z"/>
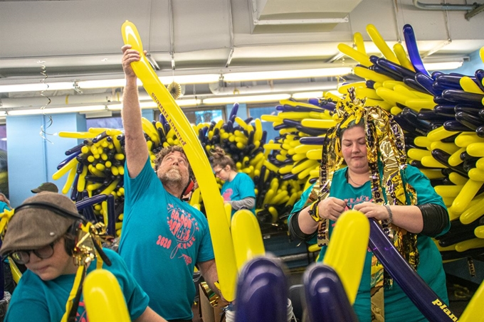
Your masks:
<path fill-rule="evenodd" d="M 241 209 L 233 214 L 231 232 L 238 269 L 248 260 L 265 254 L 261 227 L 251 211 Z"/>

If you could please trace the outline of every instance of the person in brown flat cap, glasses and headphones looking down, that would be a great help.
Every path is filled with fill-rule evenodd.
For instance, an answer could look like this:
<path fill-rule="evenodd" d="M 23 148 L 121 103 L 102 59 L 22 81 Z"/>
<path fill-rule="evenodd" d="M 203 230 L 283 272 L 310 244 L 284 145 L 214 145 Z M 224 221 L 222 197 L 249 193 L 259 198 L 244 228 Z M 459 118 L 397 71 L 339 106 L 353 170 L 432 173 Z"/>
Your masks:
<path fill-rule="evenodd" d="M 78 277 L 97 268 L 116 277 L 132 321 L 167 322 L 149 308 L 147 294 L 116 252 L 102 249 L 91 262 L 79 264 L 85 244 L 78 242 L 78 227 L 88 227 L 90 222 L 78 214 L 75 203 L 65 195 L 46 191 L 33 195 L 9 210 L 0 227 L 5 227 L 5 220 L 0 255 L 27 267 L 11 297 L 5 322 L 70 321 L 76 316 L 75 321 L 87 321 L 81 295 L 83 279 Z M 71 293 L 79 297 L 70 298 Z"/>

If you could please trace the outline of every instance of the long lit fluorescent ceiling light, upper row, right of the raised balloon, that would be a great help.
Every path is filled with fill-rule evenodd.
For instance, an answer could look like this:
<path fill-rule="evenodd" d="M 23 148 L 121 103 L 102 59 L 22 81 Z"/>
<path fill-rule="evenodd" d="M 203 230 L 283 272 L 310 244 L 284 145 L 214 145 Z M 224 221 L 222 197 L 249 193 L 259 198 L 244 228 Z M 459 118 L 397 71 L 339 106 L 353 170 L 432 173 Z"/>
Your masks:
<path fill-rule="evenodd" d="M 241 72 L 223 74 L 223 80 L 226 82 L 243 82 L 246 80 L 282 80 L 286 78 L 307 78 L 307 77 L 325 77 L 347 75 L 351 73 L 352 68 L 315 68 L 307 70 L 274 70 L 269 72 Z"/>

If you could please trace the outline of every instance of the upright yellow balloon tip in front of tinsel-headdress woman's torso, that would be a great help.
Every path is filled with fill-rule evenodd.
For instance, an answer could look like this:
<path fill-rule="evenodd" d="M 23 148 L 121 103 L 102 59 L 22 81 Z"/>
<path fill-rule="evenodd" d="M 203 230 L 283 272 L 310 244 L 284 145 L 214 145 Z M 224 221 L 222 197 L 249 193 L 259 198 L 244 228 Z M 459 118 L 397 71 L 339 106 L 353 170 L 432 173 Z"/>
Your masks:
<path fill-rule="evenodd" d="M 368 240 L 368 218 L 357 210 L 348 210 L 338 218 L 322 261 L 337 272 L 350 304 L 357 297 Z"/>

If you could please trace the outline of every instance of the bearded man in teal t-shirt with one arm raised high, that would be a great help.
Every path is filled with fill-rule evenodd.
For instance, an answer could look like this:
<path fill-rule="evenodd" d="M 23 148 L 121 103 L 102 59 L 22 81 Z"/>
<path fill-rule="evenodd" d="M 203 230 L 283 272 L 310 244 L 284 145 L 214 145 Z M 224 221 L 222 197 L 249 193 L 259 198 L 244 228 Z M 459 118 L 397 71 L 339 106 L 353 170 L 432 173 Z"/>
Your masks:
<path fill-rule="evenodd" d="M 199 210 L 181 200 L 192 174 L 180 146 L 159 151 L 153 171 L 142 129 L 137 77 L 130 65 L 140 60 L 140 53 L 130 45 L 122 51 L 126 163 L 120 255 L 147 292 L 154 311 L 169 321 L 191 321 L 195 264 L 210 288 L 219 292 L 209 225 Z"/>

